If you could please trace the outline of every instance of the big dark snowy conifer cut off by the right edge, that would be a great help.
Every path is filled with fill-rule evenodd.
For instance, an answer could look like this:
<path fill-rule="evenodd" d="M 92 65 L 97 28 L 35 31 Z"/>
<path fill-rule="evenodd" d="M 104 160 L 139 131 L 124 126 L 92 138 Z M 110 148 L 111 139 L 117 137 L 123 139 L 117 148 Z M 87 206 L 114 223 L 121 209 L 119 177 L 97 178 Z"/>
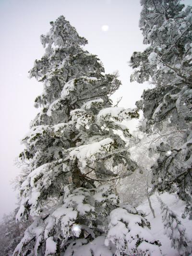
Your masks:
<path fill-rule="evenodd" d="M 139 26 L 149 46 L 133 53 L 131 81 L 153 84 L 136 103 L 144 112 L 142 129 L 151 134 L 172 128 L 156 147 L 153 184 L 159 192 L 177 191 L 186 202 L 184 215 L 192 217 L 192 7 L 180 0 L 141 4 Z"/>

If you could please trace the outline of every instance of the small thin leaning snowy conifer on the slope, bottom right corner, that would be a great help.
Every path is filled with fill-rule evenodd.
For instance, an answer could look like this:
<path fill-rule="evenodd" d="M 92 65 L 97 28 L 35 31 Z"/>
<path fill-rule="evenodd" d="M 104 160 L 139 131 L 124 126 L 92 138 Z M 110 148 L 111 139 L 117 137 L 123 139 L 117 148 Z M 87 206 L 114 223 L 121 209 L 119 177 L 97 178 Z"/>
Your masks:
<path fill-rule="evenodd" d="M 157 199 L 160 203 L 164 233 L 171 240 L 171 247 L 176 249 L 180 256 L 190 255 L 192 253 L 192 244 L 187 241 L 185 227 L 181 224 L 177 215 L 168 208 L 159 196 L 157 196 Z"/>

